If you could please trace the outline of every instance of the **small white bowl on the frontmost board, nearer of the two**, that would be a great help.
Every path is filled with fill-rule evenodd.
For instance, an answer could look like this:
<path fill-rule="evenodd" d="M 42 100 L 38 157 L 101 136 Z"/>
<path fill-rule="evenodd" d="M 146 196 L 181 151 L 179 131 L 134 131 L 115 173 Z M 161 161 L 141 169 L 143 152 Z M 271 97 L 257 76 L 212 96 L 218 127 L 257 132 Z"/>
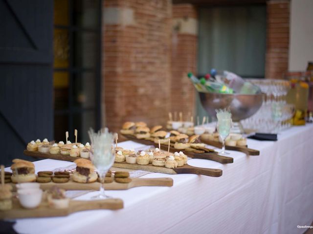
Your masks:
<path fill-rule="evenodd" d="M 18 197 L 22 207 L 34 209 L 41 203 L 43 191 L 41 189 L 20 189 Z"/>

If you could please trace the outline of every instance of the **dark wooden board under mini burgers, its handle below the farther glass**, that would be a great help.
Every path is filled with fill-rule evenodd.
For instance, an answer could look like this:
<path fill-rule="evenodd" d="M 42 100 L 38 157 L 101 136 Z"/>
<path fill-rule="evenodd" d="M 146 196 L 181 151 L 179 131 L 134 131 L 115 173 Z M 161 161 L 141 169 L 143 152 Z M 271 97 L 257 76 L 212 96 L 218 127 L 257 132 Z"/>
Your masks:
<path fill-rule="evenodd" d="M 123 135 L 123 136 L 128 138 L 129 140 L 132 140 L 132 141 L 144 144 L 144 145 L 154 145 L 154 146 L 158 147 L 158 144 L 156 144 L 155 142 L 150 141 L 150 140 L 137 139 L 136 137 L 131 136 L 131 135 Z M 161 149 L 167 151 L 168 150 L 168 146 L 161 144 Z M 180 151 L 180 150 L 177 150 L 174 147 L 170 146 L 170 152 L 175 153 L 177 151 Z M 187 156 L 189 156 L 191 158 L 207 159 L 207 160 L 220 162 L 220 163 L 223 163 L 223 164 L 233 163 L 234 162 L 234 158 L 227 157 L 227 156 L 221 156 L 221 155 L 218 155 L 216 152 L 197 154 L 197 153 L 193 153 L 193 152 L 187 152 L 185 150 L 181 150 L 181 151 L 185 155 L 187 155 Z"/>

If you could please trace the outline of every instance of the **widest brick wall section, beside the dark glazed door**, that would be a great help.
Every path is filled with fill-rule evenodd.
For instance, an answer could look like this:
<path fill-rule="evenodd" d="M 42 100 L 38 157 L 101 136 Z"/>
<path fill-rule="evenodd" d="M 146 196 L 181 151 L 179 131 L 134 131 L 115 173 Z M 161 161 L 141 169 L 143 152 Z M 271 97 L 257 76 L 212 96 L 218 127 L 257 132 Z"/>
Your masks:
<path fill-rule="evenodd" d="M 103 125 L 117 131 L 127 120 L 165 124 L 171 98 L 171 0 L 105 0 L 103 11 Z"/>

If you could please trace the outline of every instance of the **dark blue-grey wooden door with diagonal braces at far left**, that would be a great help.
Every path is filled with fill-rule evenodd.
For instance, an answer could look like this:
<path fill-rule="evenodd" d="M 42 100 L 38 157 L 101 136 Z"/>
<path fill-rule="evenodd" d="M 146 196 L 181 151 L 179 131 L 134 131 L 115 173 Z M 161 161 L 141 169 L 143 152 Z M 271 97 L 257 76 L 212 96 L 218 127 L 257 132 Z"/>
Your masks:
<path fill-rule="evenodd" d="M 53 137 L 53 1 L 0 0 L 0 162 Z M 31 158 L 27 158 L 31 160 Z"/>

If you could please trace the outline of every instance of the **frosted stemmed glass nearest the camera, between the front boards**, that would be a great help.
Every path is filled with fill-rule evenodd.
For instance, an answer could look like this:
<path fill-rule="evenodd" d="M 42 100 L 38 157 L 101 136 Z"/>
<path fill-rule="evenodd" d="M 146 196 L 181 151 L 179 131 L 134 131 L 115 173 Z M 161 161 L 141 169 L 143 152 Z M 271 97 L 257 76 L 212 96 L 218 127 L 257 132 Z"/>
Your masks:
<path fill-rule="evenodd" d="M 109 133 L 108 128 L 103 128 L 99 130 L 97 133 L 95 133 L 93 129 L 90 129 L 88 131 L 88 134 L 93 149 L 92 152 L 90 152 L 90 159 L 95 168 L 97 169 L 101 181 L 99 194 L 92 198 L 94 199 L 110 198 L 110 196 L 105 195 L 104 178 L 114 162 L 115 147 L 112 143 L 114 142 L 115 134 Z"/>

